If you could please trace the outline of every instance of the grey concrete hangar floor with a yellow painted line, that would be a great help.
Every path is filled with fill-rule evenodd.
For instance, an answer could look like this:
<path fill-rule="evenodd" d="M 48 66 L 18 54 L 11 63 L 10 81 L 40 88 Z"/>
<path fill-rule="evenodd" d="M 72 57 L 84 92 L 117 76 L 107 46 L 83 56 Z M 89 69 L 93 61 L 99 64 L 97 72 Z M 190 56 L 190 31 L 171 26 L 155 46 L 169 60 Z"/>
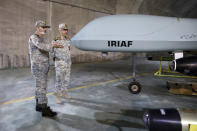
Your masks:
<path fill-rule="evenodd" d="M 197 109 L 195 96 L 173 95 L 166 80 L 153 77 L 159 62 L 137 59 L 137 79 L 143 89 L 130 94 L 129 59 L 104 63 L 72 65 L 72 99 L 55 103 L 55 73 L 48 77 L 49 105 L 58 112 L 56 118 L 44 118 L 34 110 L 34 80 L 29 68 L 0 70 L 0 131 L 147 131 L 142 116 L 148 108 Z M 145 73 L 145 74 L 144 74 Z M 119 79 L 123 78 L 123 79 Z M 196 81 L 196 79 L 177 79 Z"/>

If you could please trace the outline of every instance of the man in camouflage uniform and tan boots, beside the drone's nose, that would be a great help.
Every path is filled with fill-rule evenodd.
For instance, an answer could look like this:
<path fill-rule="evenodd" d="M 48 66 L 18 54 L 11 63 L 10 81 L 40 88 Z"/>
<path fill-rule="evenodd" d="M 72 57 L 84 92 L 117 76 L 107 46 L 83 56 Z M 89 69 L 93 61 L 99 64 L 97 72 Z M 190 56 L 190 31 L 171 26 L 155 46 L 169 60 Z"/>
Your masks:
<path fill-rule="evenodd" d="M 70 45 L 71 41 L 68 37 L 68 28 L 66 24 L 59 25 L 60 37 L 56 37 L 52 43 L 60 43 L 64 48 L 56 48 L 53 50 L 53 57 L 55 60 L 56 70 L 56 102 L 62 103 L 61 98 L 69 99 L 67 88 L 70 83 L 70 70 L 71 70 L 71 56 Z"/>

